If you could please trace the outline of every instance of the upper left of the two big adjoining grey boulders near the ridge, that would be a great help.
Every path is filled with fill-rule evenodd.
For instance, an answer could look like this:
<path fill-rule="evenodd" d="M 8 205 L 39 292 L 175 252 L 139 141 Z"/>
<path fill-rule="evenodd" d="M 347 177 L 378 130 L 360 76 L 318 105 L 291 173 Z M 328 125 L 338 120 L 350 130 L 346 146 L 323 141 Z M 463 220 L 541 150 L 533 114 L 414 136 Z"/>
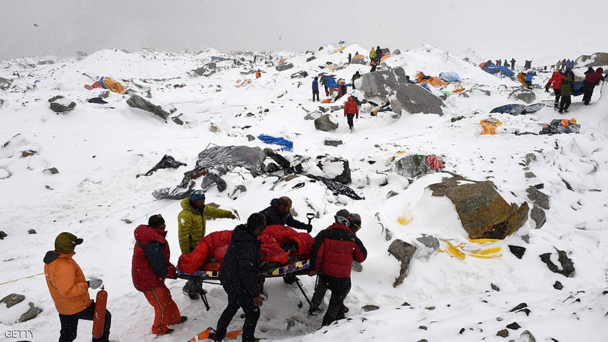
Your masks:
<path fill-rule="evenodd" d="M 406 84 L 406 72 L 402 67 L 387 68 L 381 71 L 368 72 L 361 75 L 361 86 L 359 89 L 365 93 L 365 97 L 386 98 L 395 94 L 401 84 Z"/>

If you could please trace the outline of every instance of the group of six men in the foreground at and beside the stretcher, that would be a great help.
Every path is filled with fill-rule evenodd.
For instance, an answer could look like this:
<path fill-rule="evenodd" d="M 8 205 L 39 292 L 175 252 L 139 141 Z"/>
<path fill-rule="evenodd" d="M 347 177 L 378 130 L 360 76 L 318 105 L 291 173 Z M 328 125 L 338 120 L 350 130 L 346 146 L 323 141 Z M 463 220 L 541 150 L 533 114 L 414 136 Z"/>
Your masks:
<path fill-rule="evenodd" d="M 205 194 L 196 191 L 182 200 L 182 211 L 178 215 L 179 246 L 183 254 L 190 253 L 206 234 L 206 221 L 212 218 L 237 217 L 229 210 L 205 204 Z M 260 236 L 269 225 L 287 225 L 311 233 L 312 226 L 297 221 L 291 215 L 292 201 L 289 197 L 273 199 L 268 208 L 249 216 L 246 224 L 237 225 L 232 232 L 229 247 L 219 268 L 219 280 L 228 296 L 226 309 L 219 317 L 216 329 L 210 338 L 222 341 L 233 316 L 243 309 L 245 320 L 243 341 L 254 341 L 255 327 L 263 305 L 260 281 Z M 344 318 L 347 309 L 344 299 L 351 287 L 350 273 L 353 261 L 363 262 L 367 250 L 356 233 L 361 229 L 361 216 L 340 210 L 334 216 L 334 224 L 320 231 L 314 238 L 311 250 L 309 275 L 317 276 L 317 285 L 310 315 L 321 312 L 320 304 L 327 290 L 331 291 L 328 309 L 323 316 L 323 326 Z M 134 230 L 135 244 L 131 262 L 133 285 L 154 308 L 151 332 L 167 335 L 174 330 L 170 327 L 187 321 L 165 285 L 165 279 L 176 278 L 176 267 L 170 262 L 170 248 L 167 242 L 167 225 L 161 214 L 150 216 L 147 224 Z M 44 274 L 49 292 L 59 313 L 61 330 L 60 342 L 72 342 L 77 337 L 79 320 L 94 320 L 95 301 L 89 296 L 89 289 L 102 286 L 103 280 L 86 279 L 77 262 L 72 258 L 75 247 L 83 243 L 71 233 L 60 233 L 55 239 L 55 248 L 44 256 Z M 191 299 L 198 299 L 202 289 L 199 283 L 187 282 L 184 293 Z M 108 342 L 111 327 L 111 313 L 106 310 L 103 335 L 93 338 L 94 342 Z"/>

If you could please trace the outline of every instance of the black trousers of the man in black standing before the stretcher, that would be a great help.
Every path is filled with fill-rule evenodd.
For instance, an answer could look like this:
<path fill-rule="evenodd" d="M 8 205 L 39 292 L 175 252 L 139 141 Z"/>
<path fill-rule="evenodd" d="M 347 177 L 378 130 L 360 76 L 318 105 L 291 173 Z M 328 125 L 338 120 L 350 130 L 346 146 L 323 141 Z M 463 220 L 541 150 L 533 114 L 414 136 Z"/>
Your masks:
<path fill-rule="evenodd" d="M 243 324 L 243 342 L 253 342 L 255 326 L 258 325 L 258 319 L 260 319 L 260 308 L 254 305 L 254 299 L 251 298 L 244 289 L 232 290 L 226 289 L 228 295 L 228 306 L 219 316 L 218 326 L 215 329 L 215 335 L 213 335 L 214 341 L 221 341 L 226 337 L 226 330 L 228 324 L 232 321 L 234 315 L 237 314 L 239 308 L 243 309 L 245 313 L 245 323 Z"/>

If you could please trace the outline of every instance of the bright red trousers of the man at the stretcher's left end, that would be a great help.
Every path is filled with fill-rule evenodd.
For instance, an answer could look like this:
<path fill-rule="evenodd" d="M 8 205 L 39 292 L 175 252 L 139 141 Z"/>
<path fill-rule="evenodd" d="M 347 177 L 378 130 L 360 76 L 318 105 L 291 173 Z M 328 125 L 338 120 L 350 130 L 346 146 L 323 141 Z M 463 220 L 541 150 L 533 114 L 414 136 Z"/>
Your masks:
<path fill-rule="evenodd" d="M 178 305 L 171 298 L 171 292 L 167 286 L 143 292 L 148 302 L 154 307 L 154 324 L 152 325 L 152 333 L 156 335 L 164 335 L 167 333 L 167 326 L 176 324 L 181 319 Z"/>

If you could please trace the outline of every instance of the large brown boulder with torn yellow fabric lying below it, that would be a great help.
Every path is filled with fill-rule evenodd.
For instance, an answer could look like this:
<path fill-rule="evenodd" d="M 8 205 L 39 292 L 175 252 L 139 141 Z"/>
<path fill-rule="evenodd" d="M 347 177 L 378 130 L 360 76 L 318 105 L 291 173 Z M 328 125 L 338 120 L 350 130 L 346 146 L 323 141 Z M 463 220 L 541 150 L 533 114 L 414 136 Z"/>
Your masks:
<path fill-rule="evenodd" d="M 462 176 L 429 185 L 432 196 L 447 196 L 471 239 L 505 239 L 528 221 L 528 203 L 508 203 L 489 180 L 478 182 Z"/>

